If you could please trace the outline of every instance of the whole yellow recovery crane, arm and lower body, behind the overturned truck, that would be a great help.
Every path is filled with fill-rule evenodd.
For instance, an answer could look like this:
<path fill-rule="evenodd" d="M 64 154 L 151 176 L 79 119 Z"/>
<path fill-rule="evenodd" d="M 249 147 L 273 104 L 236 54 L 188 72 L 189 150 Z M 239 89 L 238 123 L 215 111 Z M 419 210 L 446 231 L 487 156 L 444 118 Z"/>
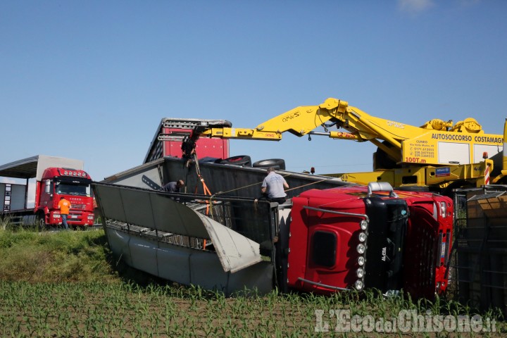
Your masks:
<path fill-rule="evenodd" d="M 184 152 L 190 154 L 198 137 L 280 141 L 284 132 L 298 137 L 324 135 L 369 141 L 377 146 L 372 172 L 327 174 L 347 182 L 389 182 L 393 187 L 425 187 L 439 192 L 506 182 L 507 161 L 505 156 L 503 161 L 500 157 L 507 127 L 503 135 L 485 134 L 473 118 L 456 124 L 433 119 L 415 127 L 377 118 L 349 106 L 347 101 L 330 98 L 318 106 L 296 107 L 255 128 L 235 128 L 224 122 L 195 127 L 192 137 L 184 142 Z M 319 127 L 324 127 L 325 132 L 314 131 Z M 338 130 L 330 131 L 330 127 Z M 496 158 L 500 161 L 494 161 Z"/>

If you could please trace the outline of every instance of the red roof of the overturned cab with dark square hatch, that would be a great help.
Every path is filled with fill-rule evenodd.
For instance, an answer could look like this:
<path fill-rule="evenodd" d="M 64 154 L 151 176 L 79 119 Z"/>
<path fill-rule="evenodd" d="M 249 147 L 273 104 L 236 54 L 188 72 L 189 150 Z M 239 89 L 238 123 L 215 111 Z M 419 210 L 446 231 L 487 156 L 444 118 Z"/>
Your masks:
<path fill-rule="evenodd" d="M 344 215 L 344 204 L 329 200 L 292 199 L 287 284 L 318 293 L 350 289 L 358 279 L 358 253 L 362 218 Z M 318 208 L 326 205 L 326 210 Z M 313 206 L 317 207 L 314 208 Z M 350 204 L 346 204 L 350 206 Z M 361 206 L 356 199 L 353 206 Z M 336 211 L 336 212 L 335 212 Z M 357 210 L 353 210 L 357 211 Z"/>

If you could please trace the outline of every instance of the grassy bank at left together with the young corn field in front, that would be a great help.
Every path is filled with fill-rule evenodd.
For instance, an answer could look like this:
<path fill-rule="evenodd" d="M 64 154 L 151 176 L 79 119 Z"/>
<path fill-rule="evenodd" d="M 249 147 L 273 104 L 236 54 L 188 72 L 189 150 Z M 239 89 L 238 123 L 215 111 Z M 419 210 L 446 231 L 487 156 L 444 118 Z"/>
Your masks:
<path fill-rule="evenodd" d="M 500 311 L 477 313 L 452 300 L 414 301 L 401 294 L 385 298 L 373 291 L 232 297 L 198 287 L 182 287 L 139 273 L 111 255 L 102 230 L 36 232 L 0 227 L 1 337 L 346 337 L 334 332 L 338 310 L 351 317 L 398 318 L 400 311 L 420 315 L 479 314 L 496 320 Z M 248 294 L 248 296 L 246 296 Z M 327 323 L 327 326 L 326 326 Z M 389 330 L 389 325 L 384 329 Z M 438 329 L 438 327 L 437 327 Z M 315 332 L 315 330 L 320 332 Z M 349 328 L 353 330 L 353 327 Z M 384 332 L 359 332 L 382 337 Z M 403 337 L 448 333 L 397 332 Z M 463 332 L 452 337 L 470 337 Z"/>

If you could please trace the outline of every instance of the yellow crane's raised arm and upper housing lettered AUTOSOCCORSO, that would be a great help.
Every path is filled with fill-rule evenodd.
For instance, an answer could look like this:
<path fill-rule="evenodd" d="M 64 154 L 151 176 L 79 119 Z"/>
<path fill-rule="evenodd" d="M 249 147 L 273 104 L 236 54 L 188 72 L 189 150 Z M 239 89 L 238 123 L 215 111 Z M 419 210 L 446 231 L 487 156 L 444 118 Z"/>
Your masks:
<path fill-rule="evenodd" d="M 336 126 L 346 132 L 329 131 Z M 325 132 L 314 131 L 324 127 Z M 453 126 L 452 121 L 430 120 L 421 127 L 377 118 L 339 99 L 327 99 L 318 106 L 299 106 L 261 123 L 256 128 L 233 128 L 228 125 L 208 125 L 195 130 L 184 142 L 189 151 L 199 137 L 225 139 L 257 139 L 280 141 L 284 132 L 298 137 L 324 135 L 332 139 L 369 141 L 375 144 L 391 168 L 403 163 L 410 165 L 470 164 L 483 161 L 484 151 L 499 153 L 502 135 L 484 134 L 473 118 Z M 480 137 L 478 136 L 480 135 Z M 186 151 L 188 152 L 188 151 Z M 458 156 L 459 155 L 459 156 Z M 380 163 L 380 164 L 379 164 Z M 377 161 L 376 168 L 387 168 L 386 161 Z"/>

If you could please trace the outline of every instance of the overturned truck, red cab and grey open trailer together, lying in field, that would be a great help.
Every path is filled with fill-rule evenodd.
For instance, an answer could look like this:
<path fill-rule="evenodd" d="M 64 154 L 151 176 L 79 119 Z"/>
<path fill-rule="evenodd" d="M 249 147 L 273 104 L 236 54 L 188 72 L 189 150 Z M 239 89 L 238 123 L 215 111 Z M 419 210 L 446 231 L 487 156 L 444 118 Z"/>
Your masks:
<path fill-rule="evenodd" d="M 225 294 L 446 289 L 444 196 L 280 170 L 292 190 L 279 205 L 256 199 L 262 168 L 186 164 L 159 158 L 94 183 L 109 245 L 128 265 Z M 180 178 L 187 193 L 160 190 Z"/>

